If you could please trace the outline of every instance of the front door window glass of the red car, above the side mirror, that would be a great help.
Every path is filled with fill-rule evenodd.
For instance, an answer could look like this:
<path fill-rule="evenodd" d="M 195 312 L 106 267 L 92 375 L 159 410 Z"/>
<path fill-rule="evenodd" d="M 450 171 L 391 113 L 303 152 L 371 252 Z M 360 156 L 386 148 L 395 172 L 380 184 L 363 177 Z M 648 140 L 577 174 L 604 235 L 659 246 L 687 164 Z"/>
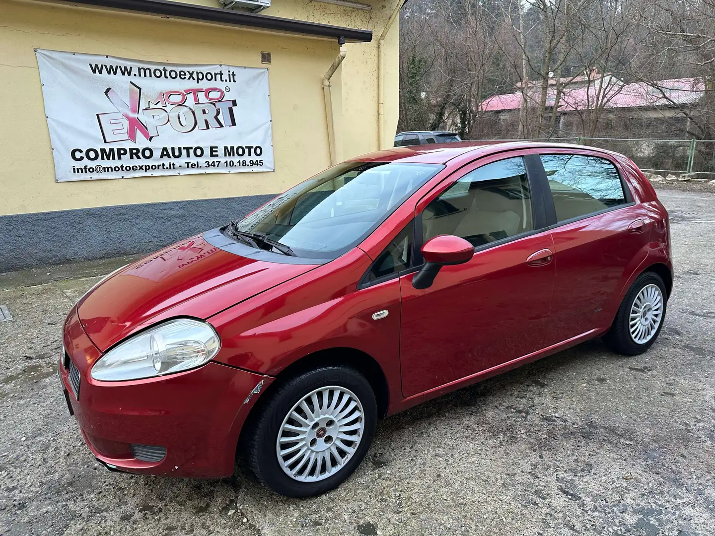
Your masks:
<path fill-rule="evenodd" d="M 521 157 L 473 170 L 422 214 L 423 239 L 455 234 L 475 247 L 533 230 L 531 194 Z"/>

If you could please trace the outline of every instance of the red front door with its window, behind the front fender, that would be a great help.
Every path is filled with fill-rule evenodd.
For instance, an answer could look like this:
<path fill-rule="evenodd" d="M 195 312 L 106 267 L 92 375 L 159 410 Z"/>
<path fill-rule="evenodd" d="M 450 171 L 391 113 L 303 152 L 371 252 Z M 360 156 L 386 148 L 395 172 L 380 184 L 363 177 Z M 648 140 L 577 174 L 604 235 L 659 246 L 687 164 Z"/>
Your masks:
<path fill-rule="evenodd" d="M 524 159 L 512 157 L 472 164 L 418 203 L 418 244 L 455 234 L 475 254 L 443 267 L 427 289 L 413 287 L 413 273 L 400 277 L 405 397 L 543 347 L 553 242 L 529 184 Z"/>

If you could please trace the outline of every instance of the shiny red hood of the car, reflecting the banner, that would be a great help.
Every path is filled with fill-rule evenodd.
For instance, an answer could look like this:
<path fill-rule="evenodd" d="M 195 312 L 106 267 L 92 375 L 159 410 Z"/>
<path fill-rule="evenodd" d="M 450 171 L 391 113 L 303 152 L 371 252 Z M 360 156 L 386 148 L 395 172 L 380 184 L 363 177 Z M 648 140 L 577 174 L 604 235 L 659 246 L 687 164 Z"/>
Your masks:
<path fill-rule="evenodd" d="M 119 269 L 79 300 L 77 313 L 104 352 L 163 319 L 206 319 L 313 268 L 241 257 L 198 235 Z"/>

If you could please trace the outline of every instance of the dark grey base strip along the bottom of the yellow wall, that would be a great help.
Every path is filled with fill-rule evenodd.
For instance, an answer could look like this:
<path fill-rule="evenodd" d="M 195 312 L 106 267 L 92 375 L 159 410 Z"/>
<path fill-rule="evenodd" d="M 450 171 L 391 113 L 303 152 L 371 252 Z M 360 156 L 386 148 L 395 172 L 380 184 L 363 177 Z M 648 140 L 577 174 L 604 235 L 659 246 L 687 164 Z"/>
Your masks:
<path fill-rule="evenodd" d="M 273 195 L 0 216 L 0 272 L 149 253 L 240 219 Z"/>

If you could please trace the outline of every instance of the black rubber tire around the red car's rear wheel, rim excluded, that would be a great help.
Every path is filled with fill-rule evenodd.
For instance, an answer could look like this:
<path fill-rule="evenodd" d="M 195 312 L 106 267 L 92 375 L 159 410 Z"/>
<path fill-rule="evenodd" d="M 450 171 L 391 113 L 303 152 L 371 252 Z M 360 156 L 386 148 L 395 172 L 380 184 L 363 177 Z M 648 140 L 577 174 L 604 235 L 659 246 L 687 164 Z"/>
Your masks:
<path fill-rule="evenodd" d="M 655 334 L 648 341 L 643 344 L 638 344 L 631 337 L 631 331 L 628 328 L 628 319 L 631 312 L 631 307 L 633 307 L 633 302 L 638 296 L 638 292 L 646 287 L 646 285 L 654 284 L 661 289 L 663 294 L 663 315 L 661 317 L 661 323 L 656 329 Z M 638 277 L 631 285 L 631 288 L 626 292 L 626 297 L 623 298 L 621 306 L 618 307 L 618 312 L 616 313 L 616 318 L 613 319 L 613 324 L 611 324 L 611 329 L 608 330 L 606 335 L 603 337 L 603 342 L 606 342 L 608 347 L 610 347 L 613 352 L 623 355 L 638 355 L 649 349 L 663 328 L 663 324 L 666 319 L 666 308 L 668 305 L 668 294 L 666 292 L 666 286 L 663 279 L 655 272 L 644 272 Z"/>

